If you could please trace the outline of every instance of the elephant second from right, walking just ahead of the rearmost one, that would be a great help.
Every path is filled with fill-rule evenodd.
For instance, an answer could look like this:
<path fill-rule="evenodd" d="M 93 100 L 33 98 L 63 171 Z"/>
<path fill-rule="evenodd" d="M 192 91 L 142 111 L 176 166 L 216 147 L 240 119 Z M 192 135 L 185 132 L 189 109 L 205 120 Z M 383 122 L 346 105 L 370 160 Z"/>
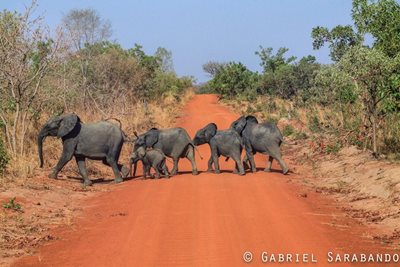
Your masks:
<path fill-rule="evenodd" d="M 233 129 L 218 131 L 215 123 L 209 123 L 197 131 L 193 138 L 194 145 L 202 145 L 208 143 L 211 150 L 211 156 L 208 160 L 208 172 L 212 171 L 214 163 L 215 173 L 220 173 L 219 156 L 232 158 L 236 162 L 234 173 L 244 175 L 244 168 L 241 161 L 243 149 L 242 139 L 240 135 Z"/>

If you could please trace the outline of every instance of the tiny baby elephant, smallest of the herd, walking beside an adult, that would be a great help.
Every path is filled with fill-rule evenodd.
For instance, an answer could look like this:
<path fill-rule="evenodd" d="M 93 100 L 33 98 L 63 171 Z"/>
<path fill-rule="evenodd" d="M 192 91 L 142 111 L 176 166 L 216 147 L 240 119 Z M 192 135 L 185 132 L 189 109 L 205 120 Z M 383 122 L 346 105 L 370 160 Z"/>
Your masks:
<path fill-rule="evenodd" d="M 132 173 L 132 164 L 134 164 L 133 177 L 136 175 L 136 164 L 139 160 L 143 163 L 143 177 L 150 176 L 150 168 L 153 167 L 156 171 L 156 178 L 160 178 L 160 172 L 169 178 L 168 168 L 165 164 L 165 155 L 158 149 L 146 150 L 144 147 L 139 147 L 134 150 L 130 159 L 130 173 Z"/>

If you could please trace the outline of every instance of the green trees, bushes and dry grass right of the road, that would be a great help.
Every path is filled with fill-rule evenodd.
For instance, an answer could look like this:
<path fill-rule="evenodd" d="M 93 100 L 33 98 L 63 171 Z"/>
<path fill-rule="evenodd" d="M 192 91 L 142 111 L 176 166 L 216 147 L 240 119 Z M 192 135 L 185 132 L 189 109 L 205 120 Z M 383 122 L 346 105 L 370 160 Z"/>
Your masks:
<path fill-rule="evenodd" d="M 286 135 L 313 138 L 322 152 L 356 145 L 400 159 L 400 4 L 353 0 L 351 12 L 353 25 L 310 29 L 313 48 L 329 46 L 332 64 L 260 46 L 261 73 L 210 61 L 203 69 L 211 80 L 200 91 L 218 93 L 243 114 L 289 120 L 297 127 Z"/>

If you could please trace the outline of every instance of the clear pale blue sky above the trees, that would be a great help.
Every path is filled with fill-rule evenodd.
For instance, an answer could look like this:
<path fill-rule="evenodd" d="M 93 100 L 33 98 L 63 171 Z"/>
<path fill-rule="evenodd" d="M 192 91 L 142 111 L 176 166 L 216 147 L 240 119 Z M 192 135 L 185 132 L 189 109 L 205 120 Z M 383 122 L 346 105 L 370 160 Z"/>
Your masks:
<path fill-rule="evenodd" d="M 0 9 L 22 11 L 26 0 L 0 0 Z M 38 0 L 37 12 L 55 28 L 72 8 L 93 8 L 111 21 L 112 39 L 124 48 L 134 43 L 146 53 L 162 46 L 172 51 L 178 75 L 208 79 L 209 60 L 240 61 L 260 71 L 259 46 L 289 48 L 288 56 L 314 55 L 329 63 L 328 49 L 314 51 L 315 26 L 351 24 L 350 0 Z"/>

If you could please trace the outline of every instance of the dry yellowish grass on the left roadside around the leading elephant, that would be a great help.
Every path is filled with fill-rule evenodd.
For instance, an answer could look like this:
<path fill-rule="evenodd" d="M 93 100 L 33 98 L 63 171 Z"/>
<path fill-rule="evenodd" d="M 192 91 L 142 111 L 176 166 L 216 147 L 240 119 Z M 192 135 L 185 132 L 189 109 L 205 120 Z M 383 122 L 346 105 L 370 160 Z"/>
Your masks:
<path fill-rule="evenodd" d="M 103 113 L 96 112 L 82 112 L 75 110 L 74 112 L 79 115 L 83 122 L 93 122 L 102 119 L 116 118 L 121 121 L 122 130 L 128 137 L 134 137 L 134 132 L 142 133 L 151 127 L 166 128 L 173 125 L 179 110 L 184 103 L 194 95 L 193 90 L 185 91 L 185 94 L 177 100 L 173 95 L 168 95 L 163 100 L 152 102 L 145 105 L 143 102 L 138 102 L 129 109 L 124 109 L 123 112 L 115 112 L 105 117 Z M 39 159 L 37 153 L 37 133 L 41 126 L 47 121 L 49 116 L 42 116 L 42 119 L 33 124 L 27 135 L 26 156 L 11 159 L 7 172 L 4 177 L 0 178 L 0 189 L 5 188 L 9 182 L 15 179 L 24 179 L 37 175 L 42 170 L 38 168 Z M 119 124 L 117 121 L 111 120 Z M 44 156 L 44 171 L 50 172 L 50 169 L 55 166 L 62 152 L 62 143 L 57 138 L 48 137 L 43 144 Z M 120 161 L 127 164 L 128 156 L 131 152 L 131 144 L 127 143 L 123 147 Z M 100 176 L 113 176 L 109 168 L 103 168 L 102 163 L 88 161 L 87 167 L 89 175 Z M 71 160 L 62 171 L 68 175 L 80 176 L 76 163 Z"/>

